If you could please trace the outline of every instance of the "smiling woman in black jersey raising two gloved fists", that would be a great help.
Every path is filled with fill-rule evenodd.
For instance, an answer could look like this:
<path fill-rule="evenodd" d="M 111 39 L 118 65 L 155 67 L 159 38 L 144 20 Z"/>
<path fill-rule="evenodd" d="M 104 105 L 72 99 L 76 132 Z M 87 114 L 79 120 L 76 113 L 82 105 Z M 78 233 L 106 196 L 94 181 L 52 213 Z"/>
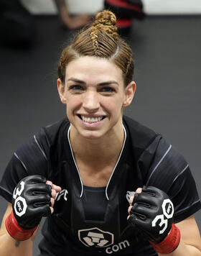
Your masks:
<path fill-rule="evenodd" d="M 41 256 L 201 255 L 189 166 L 161 135 L 123 116 L 136 83 L 116 30 L 112 12 L 98 13 L 62 52 L 67 119 L 42 128 L 5 170 L 1 255 L 32 255 L 42 216 Z"/>

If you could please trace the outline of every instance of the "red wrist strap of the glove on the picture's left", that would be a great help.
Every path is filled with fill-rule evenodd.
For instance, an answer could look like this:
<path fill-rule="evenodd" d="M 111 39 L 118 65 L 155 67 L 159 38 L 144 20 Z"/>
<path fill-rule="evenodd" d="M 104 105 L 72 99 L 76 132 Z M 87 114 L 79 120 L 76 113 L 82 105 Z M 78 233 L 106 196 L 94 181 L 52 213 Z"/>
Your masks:
<path fill-rule="evenodd" d="M 13 211 L 6 218 L 6 229 L 9 232 L 10 236 L 18 241 L 24 241 L 32 237 L 32 234 L 37 229 L 34 227 L 33 229 L 22 229 L 17 223 L 17 220 L 14 217 Z"/>

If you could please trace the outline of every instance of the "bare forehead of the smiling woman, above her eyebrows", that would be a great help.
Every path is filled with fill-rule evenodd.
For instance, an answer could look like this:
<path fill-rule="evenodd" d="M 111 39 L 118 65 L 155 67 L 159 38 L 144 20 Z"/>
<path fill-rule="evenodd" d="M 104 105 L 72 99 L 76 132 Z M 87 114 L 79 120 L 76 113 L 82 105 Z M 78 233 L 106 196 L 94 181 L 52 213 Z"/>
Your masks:
<path fill-rule="evenodd" d="M 77 78 L 91 83 L 115 80 L 123 83 L 123 73 L 117 65 L 105 58 L 80 57 L 68 63 L 65 79 Z"/>

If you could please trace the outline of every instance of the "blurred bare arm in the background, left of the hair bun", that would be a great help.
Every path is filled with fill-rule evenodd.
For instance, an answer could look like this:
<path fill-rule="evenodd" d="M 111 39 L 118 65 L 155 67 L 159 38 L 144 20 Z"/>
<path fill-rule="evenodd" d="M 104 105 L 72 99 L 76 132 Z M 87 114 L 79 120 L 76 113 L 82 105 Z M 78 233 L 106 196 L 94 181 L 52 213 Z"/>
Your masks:
<path fill-rule="evenodd" d="M 68 29 L 78 29 L 80 27 L 84 27 L 90 22 L 90 16 L 87 14 L 80 14 L 75 17 L 71 17 L 68 12 L 67 5 L 65 4 L 65 0 L 55 0 L 55 5 L 57 6 L 62 24 Z"/>

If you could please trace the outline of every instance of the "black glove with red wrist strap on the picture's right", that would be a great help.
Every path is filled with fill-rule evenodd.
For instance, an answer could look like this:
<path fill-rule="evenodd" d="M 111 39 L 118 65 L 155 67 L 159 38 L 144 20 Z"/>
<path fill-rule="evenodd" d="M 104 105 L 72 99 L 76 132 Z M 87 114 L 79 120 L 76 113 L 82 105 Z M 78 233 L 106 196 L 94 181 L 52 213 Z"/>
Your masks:
<path fill-rule="evenodd" d="M 128 223 L 139 229 L 156 252 L 173 252 L 180 242 L 179 229 L 173 223 L 174 206 L 164 191 L 147 186 L 135 193 Z"/>

